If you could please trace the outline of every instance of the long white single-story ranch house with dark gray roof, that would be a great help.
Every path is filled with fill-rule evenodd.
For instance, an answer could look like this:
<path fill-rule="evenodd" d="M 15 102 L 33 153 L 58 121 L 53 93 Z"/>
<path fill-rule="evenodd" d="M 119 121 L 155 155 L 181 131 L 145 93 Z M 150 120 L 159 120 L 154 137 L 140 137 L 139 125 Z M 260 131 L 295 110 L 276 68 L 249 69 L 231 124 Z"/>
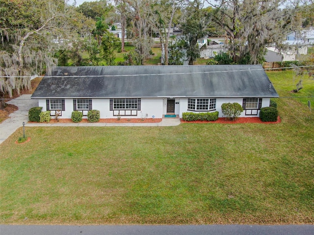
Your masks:
<path fill-rule="evenodd" d="M 43 111 L 71 118 L 72 111 L 100 118 L 162 118 L 218 111 L 237 102 L 240 117 L 259 117 L 278 97 L 261 65 L 56 67 L 32 94 Z"/>

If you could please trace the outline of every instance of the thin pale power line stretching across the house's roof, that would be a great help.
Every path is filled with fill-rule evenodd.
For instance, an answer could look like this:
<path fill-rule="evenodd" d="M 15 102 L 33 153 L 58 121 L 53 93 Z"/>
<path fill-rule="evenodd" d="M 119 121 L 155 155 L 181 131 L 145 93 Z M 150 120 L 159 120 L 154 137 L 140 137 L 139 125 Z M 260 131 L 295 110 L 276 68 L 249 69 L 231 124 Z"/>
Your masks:
<path fill-rule="evenodd" d="M 178 73 L 149 73 L 149 74 L 120 74 L 120 75 L 70 75 L 70 76 L 36 76 L 36 77 L 126 77 L 126 76 L 161 76 L 161 75 L 182 75 L 182 74 L 205 74 L 205 73 L 223 73 L 223 72 L 242 72 L 242 71 L 266 71 L 266 70 L 282 70 L 282 69 L 295 69 L 295 68 L 309 68 L 314 67 L 314 65 L 307 66 L 294 66 L 294 67 L 283 67 L 283 68 L 271 68 L 271 69 L 248 69 L 248 70 L 230 70 L 230 71 L 202 71 L 202 72 L 178 72 Z M 68 67 L 71 68 L 71 67 Z M 122 69 L 122 68 L 121 68 Z M 0 76 L 6 78 L 30 78 L 32 76 Z"/>

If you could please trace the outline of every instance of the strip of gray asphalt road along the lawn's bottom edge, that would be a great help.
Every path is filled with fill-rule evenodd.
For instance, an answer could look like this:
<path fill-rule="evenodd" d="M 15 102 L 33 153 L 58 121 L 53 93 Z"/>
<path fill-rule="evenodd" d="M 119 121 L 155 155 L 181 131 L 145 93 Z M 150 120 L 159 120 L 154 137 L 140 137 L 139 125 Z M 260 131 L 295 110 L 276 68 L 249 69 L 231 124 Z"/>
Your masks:
<path fill-rule="evenodd" d="M 314 225 L 0 225 L 0 235 L 314 235 Z"/>

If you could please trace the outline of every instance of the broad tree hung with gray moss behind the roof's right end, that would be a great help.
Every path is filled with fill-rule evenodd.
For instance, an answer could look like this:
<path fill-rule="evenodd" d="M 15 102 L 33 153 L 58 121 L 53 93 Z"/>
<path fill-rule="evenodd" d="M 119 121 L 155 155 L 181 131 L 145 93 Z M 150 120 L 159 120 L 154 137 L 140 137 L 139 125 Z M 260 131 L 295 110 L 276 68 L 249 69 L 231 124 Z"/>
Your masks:
<path fill-rule="evenodd" d="M 285 35 L 295 25 L 295 9 L 280 8 L 286 0 L 207 1 L 214 8 L 212 20 L 226 32 L 234 62 L 262 63 L 266 46 L 282 47 Z"/>

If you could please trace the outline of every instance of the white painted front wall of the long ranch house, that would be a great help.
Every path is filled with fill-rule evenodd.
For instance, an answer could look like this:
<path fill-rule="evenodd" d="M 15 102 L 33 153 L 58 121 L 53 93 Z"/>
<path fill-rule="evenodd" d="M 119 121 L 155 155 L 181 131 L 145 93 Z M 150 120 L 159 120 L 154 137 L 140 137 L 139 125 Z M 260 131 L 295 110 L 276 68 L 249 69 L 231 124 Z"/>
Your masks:
<path fill-rule="evenodd" d="M 188 98 L 174 98 L 175 99 L 175 114 L 182 118 L 184 112 L 194 112 L 187 110 L 187 99 Z M 243 103 L 243 98 L 216 98 L 216 111 L 219 112 L 219 118 L 222 118 L 221 105 L 223 103 L 234 103 L 237 102 L 240 105 Z M 268 107 L 270 98 L 262 98 L 262 107 Z M 46 111 L 46 99 L 38 100 L 38 106 L 43 107 L 43 111 Z M 92 108 L 100 111 L 100 118 L 115 118 L 113 111 L 110 111 L 109 99 L 92 99 Z M 53 111 L 52 111 L 53 112 Z M 62 111 L 62 116 L 59 118 L 71 118 L 73 112 L 73 99 L 65 99 L 65 111 Z M 258 115 L 245 115 L 245 111 L 240 117 L 259 117 Z M 141 99 L 141 111 L 137 111 L 137 116 L 122 116 L 122 118 L 162 118 L 162 115 L 167 113 L 167 98 L 151 98 Z M 52 113 L 53 115 L 53 113 Z M 87 118 L 84 116 L 83 118 Z"/>

